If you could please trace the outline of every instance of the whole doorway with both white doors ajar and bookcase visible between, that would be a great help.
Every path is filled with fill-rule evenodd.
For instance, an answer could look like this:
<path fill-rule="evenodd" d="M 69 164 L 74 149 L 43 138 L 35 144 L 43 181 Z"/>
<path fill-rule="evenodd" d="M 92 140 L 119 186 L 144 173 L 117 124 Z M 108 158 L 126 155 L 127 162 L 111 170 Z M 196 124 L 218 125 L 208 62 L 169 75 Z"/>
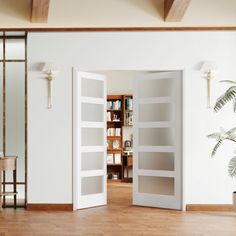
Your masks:
<path fill-rule="evenodd" d="M 75 70 L 73 89 L 74 209 L 182 209 L 182 71 Z"/>

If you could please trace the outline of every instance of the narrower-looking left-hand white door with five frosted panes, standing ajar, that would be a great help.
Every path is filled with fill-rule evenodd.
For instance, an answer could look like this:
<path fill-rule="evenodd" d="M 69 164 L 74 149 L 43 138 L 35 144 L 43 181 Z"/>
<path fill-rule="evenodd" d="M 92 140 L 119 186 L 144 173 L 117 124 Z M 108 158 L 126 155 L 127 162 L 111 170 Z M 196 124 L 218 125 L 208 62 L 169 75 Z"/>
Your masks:
<path fill-rule="evenodd" d="M 107 203 L 106 79 L 73 70 L 73 205 Z"/>

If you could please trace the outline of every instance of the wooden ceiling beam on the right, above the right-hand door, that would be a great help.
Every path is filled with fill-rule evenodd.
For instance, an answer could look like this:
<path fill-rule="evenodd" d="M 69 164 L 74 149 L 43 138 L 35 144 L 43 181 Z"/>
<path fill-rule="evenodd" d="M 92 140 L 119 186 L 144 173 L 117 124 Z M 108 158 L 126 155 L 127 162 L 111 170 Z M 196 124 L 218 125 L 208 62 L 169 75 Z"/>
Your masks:
<path fill-rule="evenodd" d="M 165 0 L 164 20 L 168 22 L 181 21 L 191 0 Z"/>

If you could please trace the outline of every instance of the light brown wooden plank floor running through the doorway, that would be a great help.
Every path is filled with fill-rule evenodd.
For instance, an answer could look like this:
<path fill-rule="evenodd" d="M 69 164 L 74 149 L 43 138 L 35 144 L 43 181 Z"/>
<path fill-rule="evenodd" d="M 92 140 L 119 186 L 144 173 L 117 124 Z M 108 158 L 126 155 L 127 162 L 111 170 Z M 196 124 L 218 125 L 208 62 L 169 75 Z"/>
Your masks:
<path fill-rule="evenodd" d="M 128 186 L 128 187 L 127 187 Z M 0 236 L 235 236 L 236 213 L 131 206 L 131 187 L 108 186 L 108 205 L 76 212 L 0 212 Z"/>

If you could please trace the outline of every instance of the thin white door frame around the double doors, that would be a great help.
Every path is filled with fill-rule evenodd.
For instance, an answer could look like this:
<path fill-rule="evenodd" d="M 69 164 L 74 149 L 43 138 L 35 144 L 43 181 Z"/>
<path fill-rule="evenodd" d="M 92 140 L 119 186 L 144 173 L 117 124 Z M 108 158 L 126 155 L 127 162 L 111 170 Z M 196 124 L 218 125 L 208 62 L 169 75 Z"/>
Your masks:
<path fill-rule="evenodd" d="M 90 71 L 92 72 L 91 69 L 83 69 L 83 71 Z M 150 72 L 160 72 L 160 71 L 181 71 L 182 72 L 182 94 L 181 94 L 181 99 L 182 99 L 182 211 L 186 210 L 186 77 L 187 77 L 187 69 L 184 67 L 160 67 L 158 69 L 156 68 L 143 68 L 143 69 L 117 69 L 117 68 L 106 68 L 106 69 L 98 69 L 96 72 L 98 73 L 103 73 L 104 71 L 150 71 Z M 73 90 L 73 88 L 72 88 Z M 73 109 L 72 109 L 73 112 Z M 73 206 L 75 205 L 75 199 L 77 196 L 76 192 L 76 169 L 75 169 L 75 160 L 73 158 Z"/>

